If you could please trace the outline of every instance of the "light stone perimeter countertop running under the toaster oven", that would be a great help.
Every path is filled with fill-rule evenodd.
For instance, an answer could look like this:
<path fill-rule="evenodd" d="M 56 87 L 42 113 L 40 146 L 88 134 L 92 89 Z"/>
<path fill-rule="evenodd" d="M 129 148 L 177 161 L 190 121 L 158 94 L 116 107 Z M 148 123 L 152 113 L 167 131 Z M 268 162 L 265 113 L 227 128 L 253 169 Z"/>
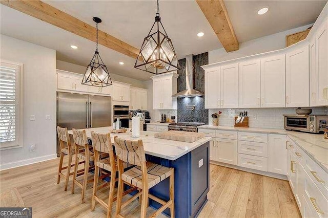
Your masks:
<path fill-rule="evenodd" d="M 295 142 L 310 158 L 312 158 L 321 168 L 328 173 L 328 139 L 324 139 L 322 134 L 311 134 L 293 132 L 285 129 L 233 127 L 233 126 L 212 126 L 202 125 L 200 129 L 215 130 L 235 130 L 237 132 L 268 133 L 287 135 Z"/>

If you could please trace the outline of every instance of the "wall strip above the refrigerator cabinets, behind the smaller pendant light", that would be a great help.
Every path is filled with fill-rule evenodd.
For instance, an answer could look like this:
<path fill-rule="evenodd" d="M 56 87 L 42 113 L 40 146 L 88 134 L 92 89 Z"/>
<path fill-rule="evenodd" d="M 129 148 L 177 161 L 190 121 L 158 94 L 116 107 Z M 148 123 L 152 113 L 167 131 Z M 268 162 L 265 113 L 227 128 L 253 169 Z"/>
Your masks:
<path fill-rule="evenodd" d="M 84 74 L 86 71 L 86 68 L 87 67 L 85 67 L 85 66 L 80 66 L 80 65 L 77 65 L 74 63 L 56 60 L 56 69 L 59 69 L 59 70 Z M 131 84 L 132 86 L 146 89 L 144 82 L 141 80 L 132 79 L 132 78 L 125 77 L 125 76 L 120 76 L 120 75 L 113 74 L 113 73 L 111 73 L 110 76 L 111 76 L 111 79 L 114 81 L 125 82 L 125 83 Z"/>

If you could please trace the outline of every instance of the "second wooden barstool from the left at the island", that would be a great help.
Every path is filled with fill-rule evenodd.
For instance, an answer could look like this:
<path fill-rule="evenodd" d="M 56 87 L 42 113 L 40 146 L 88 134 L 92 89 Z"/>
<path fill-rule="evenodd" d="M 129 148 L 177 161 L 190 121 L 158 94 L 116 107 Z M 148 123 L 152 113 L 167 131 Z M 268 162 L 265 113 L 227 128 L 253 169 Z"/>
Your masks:
<path fill-rule="evenodd" d="M 88 174 L 91 170 L 94 169 L 94 154 L 92 152 L 92 146 L 88 143 L 88 138 L 86 134 L 86 130 L 76 130 L 75 128 L 72 129 L 73 131 L 73 140 L 74 140 L 74 147 L 75 147 L 75 165 L 74 165 L 74 176 L 73 176 L 73 185 L 72 185 L 72 194 L 74 193 L 74 185 L 76 184 L 82 189 L 82 198 L 81 203 L 85 202 L 85 192 L 87 189 L 87 183 L 93 182 L 92 180 L 88 181 Z M 84 178 L 83 183 L 80 183 L 76 180 L 77 178 L 77 168 L 78 168 L 78 160 L 81 159 L 84 163 Z"/>

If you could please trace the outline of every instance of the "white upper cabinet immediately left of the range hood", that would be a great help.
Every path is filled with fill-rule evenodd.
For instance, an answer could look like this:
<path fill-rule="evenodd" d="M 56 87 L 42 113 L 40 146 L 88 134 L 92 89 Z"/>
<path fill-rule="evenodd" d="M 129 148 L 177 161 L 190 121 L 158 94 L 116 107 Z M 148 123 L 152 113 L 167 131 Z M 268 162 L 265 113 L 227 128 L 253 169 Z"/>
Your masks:
<path fill-rule="evenodd" d="M 152 76 L 153 80 L 153 109 L 176 110 L 177 98 L 172 95 L 177 93 L 177 78 L 175 72 Z M 145 94 L 144 94 L 145 96 Z"/>

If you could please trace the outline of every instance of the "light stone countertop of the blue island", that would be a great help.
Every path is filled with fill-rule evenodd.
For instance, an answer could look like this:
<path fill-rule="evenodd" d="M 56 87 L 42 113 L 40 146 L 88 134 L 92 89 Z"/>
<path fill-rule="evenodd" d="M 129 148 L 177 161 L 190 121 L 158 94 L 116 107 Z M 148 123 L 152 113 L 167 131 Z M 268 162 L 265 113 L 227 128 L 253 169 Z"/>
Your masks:
<path fill-rule="evenodd" d="M 91 139 L 91 131 L 107 134 L 110 133 L 111 129 L 112 129 L 111 126 L 107 126 L 107 127 L 98 127 L 98 128 L 87 128 L 85 130 L 87 133 L 87 137 Z M 72 135 L 72 130 L 69 130 L 68 133 Z M 182 157 L 183 155 L 186 155 L 188 152 L 210 141 L 211 139 L 210 137 L 204 137 L 192 143 L 180 142 L 180 141 L 155 138 L 154 136 L 155 133 L 156 132 L 140 131 L 139 138 L 132 138 L 131 137 L 132 133 L 130 132 L 130 129 L 128 129 L 128 132 L 126 133 L 118 133 L 118 134 L 111 133 L 110 135 L 111 135 L 112 143 L 114 142 L 114 136 L 118 136 L 119 138 L 128 139 L 128 140 L 141 139 L 142 142 L 144 143 L 144 149 L 147 155 L 152 155 L 155 157 L 164 158 L 172 161 Z"/>

